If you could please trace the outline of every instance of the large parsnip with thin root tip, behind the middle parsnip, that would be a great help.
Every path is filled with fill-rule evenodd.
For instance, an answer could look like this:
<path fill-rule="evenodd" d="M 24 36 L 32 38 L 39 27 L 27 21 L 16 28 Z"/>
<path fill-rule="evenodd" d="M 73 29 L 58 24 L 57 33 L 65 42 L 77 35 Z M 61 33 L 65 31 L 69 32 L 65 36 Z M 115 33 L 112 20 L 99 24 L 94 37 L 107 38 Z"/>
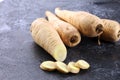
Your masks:
<path fill-rule="evenodd" d="M 55 9 L 55 14 L 67 21 L 68 23 L 74 25 L 81 34 L 87 37 L 97 37 L 103 32 L 103 22 L 102 20 L 88 12 L 85 11 L 69 11 L 61 10 L 60 8 Z"/>

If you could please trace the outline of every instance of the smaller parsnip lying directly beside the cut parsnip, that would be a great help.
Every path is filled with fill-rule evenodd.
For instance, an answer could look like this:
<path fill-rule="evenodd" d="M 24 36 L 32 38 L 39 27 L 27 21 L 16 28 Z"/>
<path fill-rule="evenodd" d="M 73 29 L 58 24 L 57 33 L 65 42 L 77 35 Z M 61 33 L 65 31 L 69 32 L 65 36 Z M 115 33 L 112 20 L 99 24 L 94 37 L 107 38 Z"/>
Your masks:
<path fill-rule="evenodd" d="M 48 21 L 53 25 L 53 27 L 59 33 L 62 41 L 69 47 L 74 47 L 81 41 L 81 36 L 79 31 L 73 27 L 71 24 L 60 20 L 56 15 L 50 11 L 46 11 L 46 16 Z"/>

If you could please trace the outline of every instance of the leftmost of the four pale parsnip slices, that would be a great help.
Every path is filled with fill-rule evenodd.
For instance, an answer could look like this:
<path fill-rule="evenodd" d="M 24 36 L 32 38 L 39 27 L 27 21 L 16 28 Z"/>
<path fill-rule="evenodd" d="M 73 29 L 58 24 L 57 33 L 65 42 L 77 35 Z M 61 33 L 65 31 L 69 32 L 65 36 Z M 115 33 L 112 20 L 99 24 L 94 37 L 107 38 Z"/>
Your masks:
<path fill-rule="evenodd" d="M 46 71 L 53 71 L 56 69 L 56 65 L 53 61 L 44 61 L 40 64 L 40 68 Z"/>

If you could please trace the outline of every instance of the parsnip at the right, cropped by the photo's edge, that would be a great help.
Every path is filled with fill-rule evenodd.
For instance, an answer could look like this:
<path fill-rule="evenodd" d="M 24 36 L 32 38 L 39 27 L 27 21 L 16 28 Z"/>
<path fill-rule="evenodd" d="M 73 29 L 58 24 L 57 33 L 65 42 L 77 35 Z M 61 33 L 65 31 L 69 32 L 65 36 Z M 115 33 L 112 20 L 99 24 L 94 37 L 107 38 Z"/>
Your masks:
<path fill-rule="evenodd" d="M 120 40 L 120 24 L 117 21 L 102 19 L 104 24 L 103 34 L 101 39 L 110 42 Z"/>

